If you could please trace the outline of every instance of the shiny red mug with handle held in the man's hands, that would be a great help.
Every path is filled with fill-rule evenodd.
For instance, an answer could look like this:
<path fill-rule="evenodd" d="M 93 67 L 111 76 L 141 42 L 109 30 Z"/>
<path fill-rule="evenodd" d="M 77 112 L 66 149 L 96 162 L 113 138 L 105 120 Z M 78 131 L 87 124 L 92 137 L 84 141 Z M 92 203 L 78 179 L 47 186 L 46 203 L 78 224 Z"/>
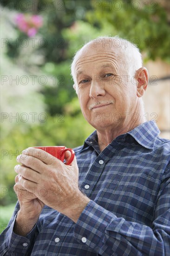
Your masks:
<path fill-rule="evenodd" d="M 62 162 L 64 162 L 64 159 L 65 159 L 65 151 L 70 151 L 71 157 L 70 157 L 69 161 L 67 162 L 67 165 L 72 163 L 72 161 L 74 159 L 74 155 L 75 155 L 72 148 L 66 148 L 65 146 L 42 146 L 42 147 L 33 147 L 33 148 L 42 149 L 42 150 L 46 151 L 47 153 L 53 155 L 54 157 L 58 158 Z"/>

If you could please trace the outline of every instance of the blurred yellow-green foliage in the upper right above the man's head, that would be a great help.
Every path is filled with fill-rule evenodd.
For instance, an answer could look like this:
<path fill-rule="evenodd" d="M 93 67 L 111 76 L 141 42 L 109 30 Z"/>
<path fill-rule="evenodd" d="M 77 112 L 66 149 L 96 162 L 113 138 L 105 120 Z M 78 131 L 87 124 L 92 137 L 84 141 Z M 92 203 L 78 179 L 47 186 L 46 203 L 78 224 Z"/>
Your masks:
<path fill-rule="evenodd" d="M 161 58 L 170 61 L 170 28 L 166 10 L 154 1 L 101 1 L 86 18 L 90 24 L 98 24 L 100 30 L 110 27 L 106 33 L 119 35 L 137 44 L 147 55 L 145 61 Z M 117 4 L 116 4 L 117 2 Z M 93 1 L 96 6 L 95 1 Z"/>

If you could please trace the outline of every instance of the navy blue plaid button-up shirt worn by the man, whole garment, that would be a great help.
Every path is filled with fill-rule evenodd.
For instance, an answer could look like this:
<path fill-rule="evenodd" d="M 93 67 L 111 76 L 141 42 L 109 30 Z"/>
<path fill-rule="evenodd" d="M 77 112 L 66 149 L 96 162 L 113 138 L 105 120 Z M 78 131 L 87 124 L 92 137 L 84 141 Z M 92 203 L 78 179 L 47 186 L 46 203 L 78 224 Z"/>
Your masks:
<path fill-rule="evenodd" d="M 102 152 L 94 131 L 75 148 L 79 188 L 91 201 L 77 223 L 44 207 L 26 236 L 0 236 L 0 256 L 170 256 L 170 141 L 153 121 Z"/>

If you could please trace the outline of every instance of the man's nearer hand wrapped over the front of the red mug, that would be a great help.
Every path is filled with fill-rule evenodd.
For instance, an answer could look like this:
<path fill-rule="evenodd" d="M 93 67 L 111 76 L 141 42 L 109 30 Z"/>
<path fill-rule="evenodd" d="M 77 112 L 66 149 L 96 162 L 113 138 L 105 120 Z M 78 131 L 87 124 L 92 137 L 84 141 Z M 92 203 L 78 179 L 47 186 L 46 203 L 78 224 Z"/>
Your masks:
<path fill-rule="evenodd" d="M 25 153 L 25 154 L 24 154 Z M 65 152 L 66 162 L 71 153 Z M 74 222 L 90 201 L 78 189 L 78 165 L 74 157 L 71 165 L 39 148 L 27 148 L 17 157 L 21 165 L 15 171 L 20 175 L 19 184 L 33 193 L 38 202 L 56 209 Z"/>

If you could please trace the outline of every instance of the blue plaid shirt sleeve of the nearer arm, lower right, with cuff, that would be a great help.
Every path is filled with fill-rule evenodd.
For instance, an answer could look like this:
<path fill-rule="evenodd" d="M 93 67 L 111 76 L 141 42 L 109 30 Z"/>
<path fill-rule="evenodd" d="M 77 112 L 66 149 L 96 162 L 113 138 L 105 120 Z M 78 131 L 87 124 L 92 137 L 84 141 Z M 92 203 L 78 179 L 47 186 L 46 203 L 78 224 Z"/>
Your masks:
<path fill-rule="evenodd" d="M 74 237 L 100 256 L 170 255 L 170 169 L 163 175 L 152 227 L 118 218 L 91 200 L 75 225 Z"/>

